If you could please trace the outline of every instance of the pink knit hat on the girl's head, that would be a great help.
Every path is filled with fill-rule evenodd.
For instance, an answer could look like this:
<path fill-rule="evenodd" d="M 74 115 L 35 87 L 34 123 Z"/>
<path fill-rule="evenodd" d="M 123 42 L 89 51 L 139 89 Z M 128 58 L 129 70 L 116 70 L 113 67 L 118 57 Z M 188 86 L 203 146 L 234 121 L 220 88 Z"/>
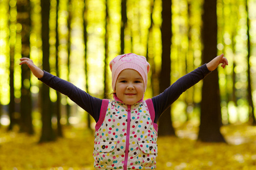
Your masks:
<path fill-rule="evenodd" d="M 146 84 L 148 82 L 148 73 L 150 69 L 149 63 L 144 56 L 138 56 L 133 53 L 123 54 L 116 56 L 110 62 L 110 70 L 112 71 L 112 88 L 115 91 L 116 80 L 118 75 L 124 69 L 133 69 L 140 73 L 144 81 L 144 92 L 146 90 Z"/>

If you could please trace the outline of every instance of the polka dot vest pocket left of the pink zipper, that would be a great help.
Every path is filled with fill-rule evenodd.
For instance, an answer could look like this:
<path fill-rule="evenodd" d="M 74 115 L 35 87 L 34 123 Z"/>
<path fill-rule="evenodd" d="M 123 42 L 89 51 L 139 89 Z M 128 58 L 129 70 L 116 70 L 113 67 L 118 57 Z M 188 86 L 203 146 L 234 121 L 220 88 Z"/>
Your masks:
<path fill-rule="evenodd" d="M 115 161 L 115 141 L 95 141 L 95 161 L 101 165 L 112 165 Z"/>

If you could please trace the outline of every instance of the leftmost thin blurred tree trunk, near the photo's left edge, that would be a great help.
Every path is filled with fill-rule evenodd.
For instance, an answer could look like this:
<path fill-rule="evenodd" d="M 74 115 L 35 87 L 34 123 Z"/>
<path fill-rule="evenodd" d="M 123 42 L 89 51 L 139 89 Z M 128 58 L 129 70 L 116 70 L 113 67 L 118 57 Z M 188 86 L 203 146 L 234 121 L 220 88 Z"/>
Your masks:
<path fill-rule="evenodd" d="M 10 6 L 10 10 L 12 10 L 12 6 Z M 9 25 L 16 24 L 16 20 L 10 20 Z M 16 30 L 15 30 L 16 31 Z M 10 125 L 9 130 L 12 130 L 15 120 L 14 120 L 14 112 L 15 112 L 15 101 L 14 101 L 14 55 L 15 55 L 15 38 L 16 33 L 11 30 L 10 27 L 10 103 L 9 103 L 9 117 L 10 117 Z"/>

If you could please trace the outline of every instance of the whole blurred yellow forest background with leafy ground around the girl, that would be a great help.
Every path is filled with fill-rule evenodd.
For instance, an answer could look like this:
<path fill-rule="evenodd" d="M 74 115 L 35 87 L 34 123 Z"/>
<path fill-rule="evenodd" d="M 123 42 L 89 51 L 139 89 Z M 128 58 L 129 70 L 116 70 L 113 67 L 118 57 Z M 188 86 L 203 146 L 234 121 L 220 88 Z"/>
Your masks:
<path fill-rule="evenodd" d="M 19 58 L 111 98 L 108 63 L 123 53 L 150 63 L 145 99 L 224 53 L 229 65 L 184 92 L 160 118 L 159 146 L 170 142 L 159 152 L 174 154 L 158 156 L 158 168 L 255 168 L 255 7 L 254 0 L 1 0 L 0 169 L 93 167 L 85 158 L 93 151 L 94 120 L 19 66 Z M 83 143 L 91 149 L 81 153 Z M 27 155 L 16 158 L 21 148 Z M 206 153 L 212 155 L 205 160 Z M 72 162 L 70 155 L 80 157 Z"/>

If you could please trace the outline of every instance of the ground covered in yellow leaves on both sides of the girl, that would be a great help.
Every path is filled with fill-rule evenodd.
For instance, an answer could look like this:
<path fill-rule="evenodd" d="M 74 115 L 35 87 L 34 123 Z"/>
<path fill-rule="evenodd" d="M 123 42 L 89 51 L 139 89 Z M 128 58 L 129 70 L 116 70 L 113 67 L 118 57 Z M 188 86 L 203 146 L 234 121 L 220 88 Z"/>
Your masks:
<path fill-rule="evenodd" d="M 221 128 L 225 143 L 196 141 L 198 129 L 177 128 L 177 137 L 158 137 L 157 170 L 256 169 L 256 127 L 228 125 Z M 39 144 L 40 133 L 28 136 L 0 129 L 0 169 L 94 169 L 93 133 L 64 128 L 65 137 Z"/>

